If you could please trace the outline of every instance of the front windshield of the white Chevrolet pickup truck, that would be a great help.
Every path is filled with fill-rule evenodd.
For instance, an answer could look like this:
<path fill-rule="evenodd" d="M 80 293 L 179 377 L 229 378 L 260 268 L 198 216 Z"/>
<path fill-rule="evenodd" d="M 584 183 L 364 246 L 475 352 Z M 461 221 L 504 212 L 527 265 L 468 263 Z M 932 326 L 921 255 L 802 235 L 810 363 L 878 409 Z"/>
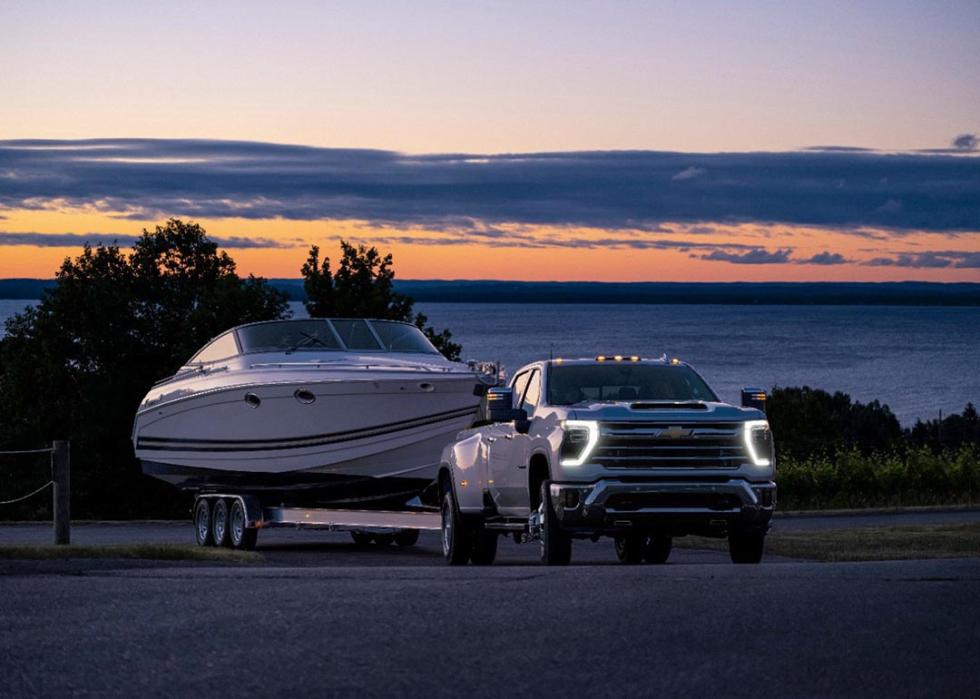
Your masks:
<path fill-rule="evenodd" d="M 583 401 L 716 401 L 708 384 L 690 367 L 637 363 L 552 366 L 548 403 Z"/>

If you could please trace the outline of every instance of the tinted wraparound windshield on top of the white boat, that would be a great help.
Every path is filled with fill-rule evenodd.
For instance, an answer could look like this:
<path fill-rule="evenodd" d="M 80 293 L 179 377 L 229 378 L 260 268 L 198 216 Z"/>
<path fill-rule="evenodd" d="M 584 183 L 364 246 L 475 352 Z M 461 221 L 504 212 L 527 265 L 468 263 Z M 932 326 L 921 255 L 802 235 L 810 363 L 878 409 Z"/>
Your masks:
<path fill-rule="evenodd" d="M 310 318 L 238 328 L 243 352 L 368 351 L 439 354 L 413 325 L 360 318 Z"/>

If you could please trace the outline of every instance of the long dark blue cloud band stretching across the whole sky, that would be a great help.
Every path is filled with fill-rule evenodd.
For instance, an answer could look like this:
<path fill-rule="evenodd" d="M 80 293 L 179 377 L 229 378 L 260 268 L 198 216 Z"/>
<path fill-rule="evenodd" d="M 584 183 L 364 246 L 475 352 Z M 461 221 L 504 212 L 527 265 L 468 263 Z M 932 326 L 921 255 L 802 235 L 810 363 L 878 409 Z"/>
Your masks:
<path fill-rule="evenodd" d="M 698 170 L 711 177 L 674 185 Z M 438 230 L 468 220 L 491 229 L 751 222 L 948 233 L 980 227 L 980 158 L 838 150 L 407 155 L 243 141 L 0 141 L 4 207 Z"/>

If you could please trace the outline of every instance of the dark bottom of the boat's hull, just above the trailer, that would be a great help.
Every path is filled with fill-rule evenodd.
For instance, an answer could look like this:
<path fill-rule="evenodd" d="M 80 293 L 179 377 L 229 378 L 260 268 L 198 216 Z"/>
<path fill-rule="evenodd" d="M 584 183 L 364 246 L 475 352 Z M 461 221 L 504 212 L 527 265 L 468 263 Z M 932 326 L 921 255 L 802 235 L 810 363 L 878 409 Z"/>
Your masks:
<path fill-rule="evenodd" d="M 432 484 L 425 478 L 372 478 L 291 471 L 249 473 L 140 461 L 143 473 L 182 490 L 254 495 L 263 506 L 402 506 Z"/>

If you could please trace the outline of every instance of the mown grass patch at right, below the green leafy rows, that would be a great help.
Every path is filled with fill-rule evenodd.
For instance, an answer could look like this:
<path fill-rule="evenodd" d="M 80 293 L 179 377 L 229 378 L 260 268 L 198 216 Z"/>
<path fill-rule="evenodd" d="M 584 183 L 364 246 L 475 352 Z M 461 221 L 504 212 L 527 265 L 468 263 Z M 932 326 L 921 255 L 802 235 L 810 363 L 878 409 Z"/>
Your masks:
<path fill-rule="evenodd" d="M 684 537 L 678 546 L 727 550 L 723 539 Z M 980 523 L 774 531 L 766 553 L 813 561 L 980 557 Z"/>

